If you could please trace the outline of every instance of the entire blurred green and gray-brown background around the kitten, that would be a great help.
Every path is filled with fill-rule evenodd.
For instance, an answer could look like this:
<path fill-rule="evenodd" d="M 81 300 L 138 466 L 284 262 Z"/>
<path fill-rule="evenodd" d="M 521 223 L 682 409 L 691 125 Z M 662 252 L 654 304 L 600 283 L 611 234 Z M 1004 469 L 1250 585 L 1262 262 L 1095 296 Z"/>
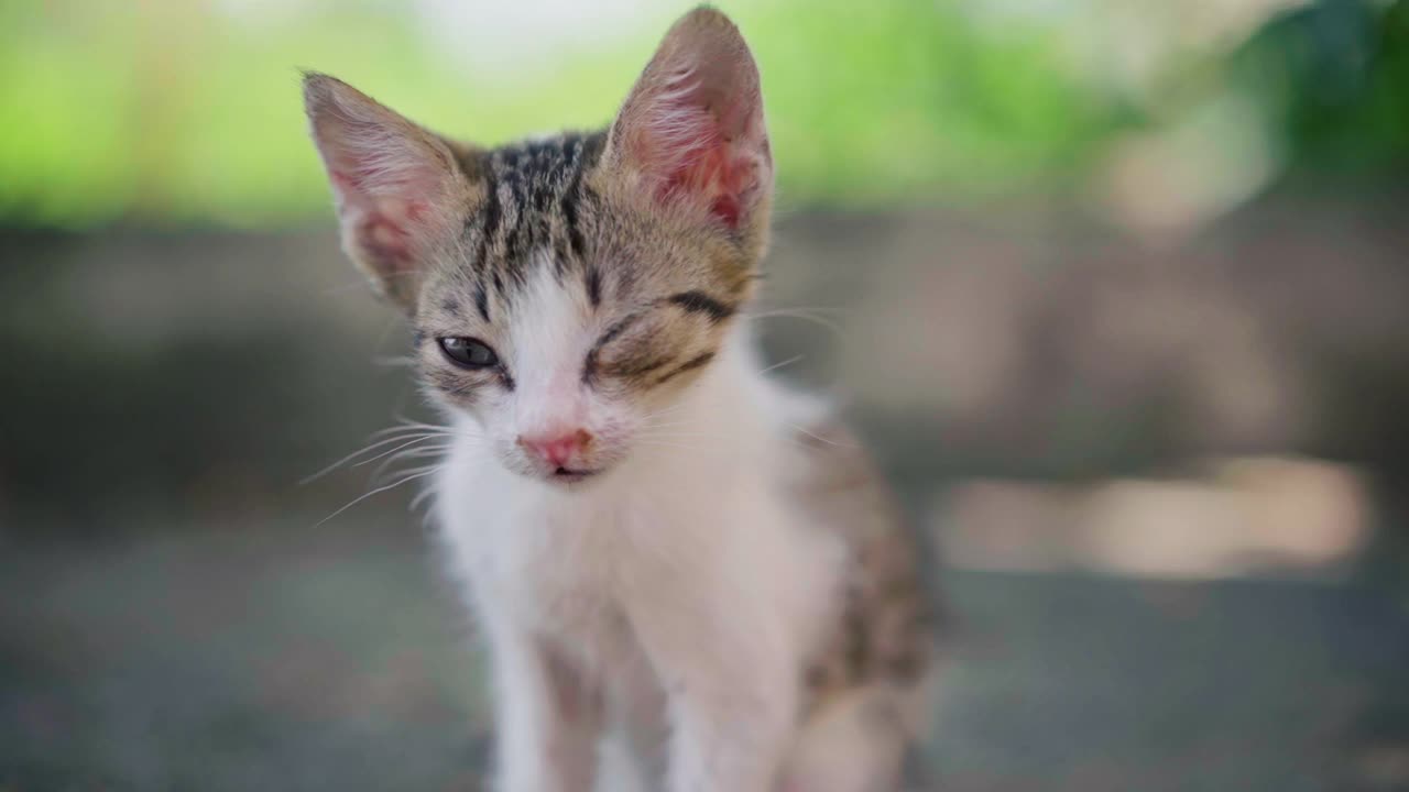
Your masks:
<path fill-rule="evenodd" d="M 723 1 L 752 321 L 954 614 L 930 785 L 1409 789 L 1409 0 Z M 688 6 L 0 4 L 0 791 L 482 788 L 299 69 L 493 144 Z"/>

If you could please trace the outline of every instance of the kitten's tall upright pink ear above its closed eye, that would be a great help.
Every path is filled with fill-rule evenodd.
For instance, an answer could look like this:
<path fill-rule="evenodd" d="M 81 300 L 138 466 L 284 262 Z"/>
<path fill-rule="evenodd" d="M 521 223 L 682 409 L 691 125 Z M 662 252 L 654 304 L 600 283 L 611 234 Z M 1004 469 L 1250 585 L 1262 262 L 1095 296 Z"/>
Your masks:
<path fill-rule="evenodd" d="M 738 231 L 766 224 L 774 165 L 758 66 L 728 17 L 700 7 L 675 23 L 612 124 L 606 156 L 655 202 Z"/>

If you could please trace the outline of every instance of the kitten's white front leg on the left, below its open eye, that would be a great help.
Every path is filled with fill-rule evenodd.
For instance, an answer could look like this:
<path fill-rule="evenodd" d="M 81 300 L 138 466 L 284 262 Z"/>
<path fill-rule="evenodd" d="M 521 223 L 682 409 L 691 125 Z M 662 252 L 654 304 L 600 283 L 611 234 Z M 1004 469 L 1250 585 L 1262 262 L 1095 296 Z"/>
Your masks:
<path fill-rule="evenodd" d="M 602 703 L 561 654 L 513 627 L 493 630 L 497 792 L 589 792 Z"/>

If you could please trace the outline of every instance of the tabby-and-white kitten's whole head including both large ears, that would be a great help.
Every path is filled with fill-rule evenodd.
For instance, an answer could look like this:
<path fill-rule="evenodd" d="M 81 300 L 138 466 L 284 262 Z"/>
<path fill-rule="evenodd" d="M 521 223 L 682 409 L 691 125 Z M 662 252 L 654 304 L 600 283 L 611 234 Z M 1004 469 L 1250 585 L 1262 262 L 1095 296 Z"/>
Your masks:
<path fill-rule="evenodd" d="M 578 481 L 669 423 L 768 235 L 758 69 L 728 18 L 676 23 L 595 134 L 482 149 L 328 76 L 304 97 L 344 248 L 410 317 L 433 397 L 509 469 Z"/>

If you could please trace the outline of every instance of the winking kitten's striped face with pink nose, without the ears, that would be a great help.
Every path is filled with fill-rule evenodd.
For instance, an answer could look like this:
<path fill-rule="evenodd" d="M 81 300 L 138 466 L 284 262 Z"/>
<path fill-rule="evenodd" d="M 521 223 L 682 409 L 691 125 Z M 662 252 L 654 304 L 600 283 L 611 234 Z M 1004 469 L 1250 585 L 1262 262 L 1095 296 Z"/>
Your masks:
<path fill-rule="evenodd" d="M 617 189 L 603 140 L 471 155 L 486 199 L 414 316 L 433 397 L 473 416 L 504 466 L 559 482 L 602 474 L 643 433 L 666 431 L 666 410 L 707 368 L 752 282 L 727 235 Z"/>

